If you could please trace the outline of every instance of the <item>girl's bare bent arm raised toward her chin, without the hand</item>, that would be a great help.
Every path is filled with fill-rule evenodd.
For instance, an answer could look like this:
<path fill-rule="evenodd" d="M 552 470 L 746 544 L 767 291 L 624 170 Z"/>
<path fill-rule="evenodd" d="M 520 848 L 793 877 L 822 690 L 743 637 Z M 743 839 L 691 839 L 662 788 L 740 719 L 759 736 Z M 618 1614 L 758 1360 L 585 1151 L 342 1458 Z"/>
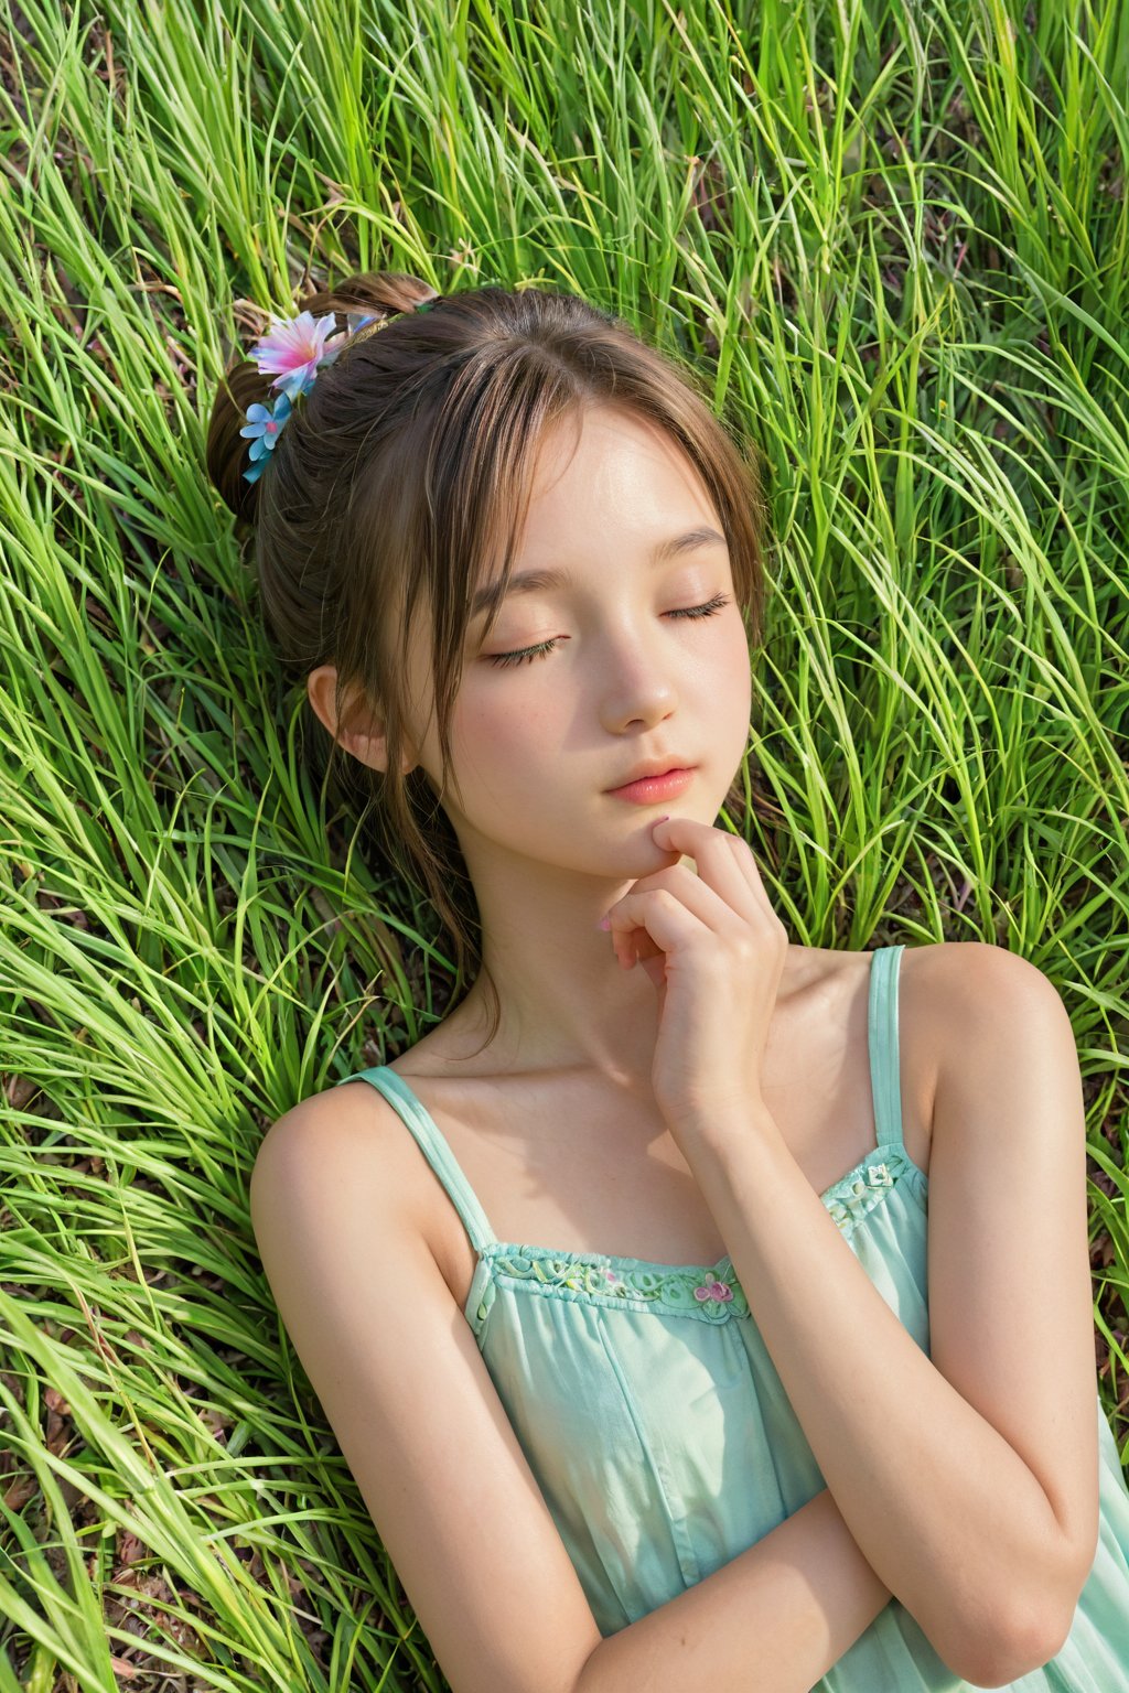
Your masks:
<path fill-rule="evenodd" d="M 978 943 L 946 953 L 931 1356 L 762 1104 L 758 1133 L 682 1139 L 848 1530 L 945 1663 L 999 1685 L 1060 1649 L 1097 1546 L 1085 1119 L 1046 977 Z"/>

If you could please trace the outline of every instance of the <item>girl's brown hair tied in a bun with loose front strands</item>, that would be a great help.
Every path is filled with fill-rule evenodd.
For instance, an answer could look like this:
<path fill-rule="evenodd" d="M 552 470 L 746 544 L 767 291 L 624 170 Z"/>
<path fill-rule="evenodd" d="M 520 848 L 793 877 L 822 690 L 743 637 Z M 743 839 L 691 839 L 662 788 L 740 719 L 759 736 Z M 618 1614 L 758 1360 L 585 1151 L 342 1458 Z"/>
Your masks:
<path fill-rule="evenodd" d="M 413 310 L 425 301 L 435 308 Z M 347 312 L 403 317 L 379 334 L 362 332 L 318 372 L 257 483 L 244 481 L 249 442 L 239 430 L 252 401 L 273 398 L 271 378 L 247 359 L 234 362 L 212 408 L 208 474 L 235 516 L 256 525 L 262 615 L 283 669 L 300 681 L 333 665 L 339 725 L 347 694 L 357 691 L 369 706 L 379 701 L 388 770 L 350 758 L 344 787 L 372 804 L 377 845 L 432 901 L 454 940 L 459 980 L 467 982 L 484 967 L 465 863 L 440 809 L 449 725 L 471 598 L 499 540 L 501 576 L 509 577 L 543 432 L 591 406 L 616 405 L 674 438 L 721 520 L 752 645 L 762 640 L 765 593 L 758 479 L 696 372 L 577 295 L 494 284 L 435 295 L 416 276 L 369 271 L 308 296 L 300 310 L 339 313 L 340 328 Z M 438 794 L 420 767 L 399 770 L 410 718 L 396 653 L 406 650 L 421 598 L 432 623 Z M 308 701 L 306 713 L 317 742 L 305 743 L 310 764 L 332 780 L 342 748 Z M 738 772 L 726 802 L 740 797 Z M 499 1006 L 489 977 L 484 987 L 489 1045 Z"/>

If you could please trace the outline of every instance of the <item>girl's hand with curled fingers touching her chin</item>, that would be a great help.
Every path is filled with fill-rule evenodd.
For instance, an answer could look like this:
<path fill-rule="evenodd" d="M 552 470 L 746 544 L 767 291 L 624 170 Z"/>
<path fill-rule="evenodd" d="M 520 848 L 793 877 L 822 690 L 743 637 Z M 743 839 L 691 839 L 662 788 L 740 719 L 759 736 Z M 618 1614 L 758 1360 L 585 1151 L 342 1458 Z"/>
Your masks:
<path fill-rule="evenodd" d="M 760 1073 L 789 940 L 738 835 L 665 818 L 652 840 L 675 863 L 640 877 L 601 928 L 620 967 L 642 963 L 658 992 L 652 1085 L 679 1141 L 680 1129 L 748 1121 L 763 1104 Z M 697 874 L 677 862 L 684 855 Z"/>

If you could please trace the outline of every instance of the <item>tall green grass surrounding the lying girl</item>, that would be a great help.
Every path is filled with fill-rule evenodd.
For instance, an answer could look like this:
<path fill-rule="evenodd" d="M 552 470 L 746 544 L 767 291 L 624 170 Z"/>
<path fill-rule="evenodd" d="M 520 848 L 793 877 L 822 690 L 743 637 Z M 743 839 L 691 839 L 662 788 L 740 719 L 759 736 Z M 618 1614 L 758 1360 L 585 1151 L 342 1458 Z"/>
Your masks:
<path fill-rule="evenodd" d="M 203 467 L 251 306 L 352 269 L 577 290 L 709 374 L 774 530 L 735 823 L 794 941 L 1063 994 L 1129 1461 L 1124 0 L 0 34 L 0 1693 L 445 1686 L 247 1216 L 266 1124 L 455 989 L 303 775 Z"/>

